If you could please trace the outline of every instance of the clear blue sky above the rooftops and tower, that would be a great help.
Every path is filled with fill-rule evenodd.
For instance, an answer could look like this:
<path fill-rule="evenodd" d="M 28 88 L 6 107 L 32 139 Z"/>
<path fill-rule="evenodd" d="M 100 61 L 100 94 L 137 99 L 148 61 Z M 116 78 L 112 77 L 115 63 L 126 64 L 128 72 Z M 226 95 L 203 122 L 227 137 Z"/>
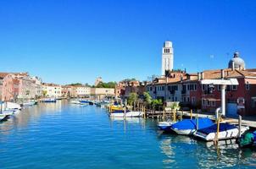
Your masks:
<path fill-rule="evenodd" d="M 92 84 L 161 74 L 161 47 L 175 68 L 226 68 L 239 51 L 256 68 L 256 1 L 0 0 L 2 72 L 45 82 Z"/>

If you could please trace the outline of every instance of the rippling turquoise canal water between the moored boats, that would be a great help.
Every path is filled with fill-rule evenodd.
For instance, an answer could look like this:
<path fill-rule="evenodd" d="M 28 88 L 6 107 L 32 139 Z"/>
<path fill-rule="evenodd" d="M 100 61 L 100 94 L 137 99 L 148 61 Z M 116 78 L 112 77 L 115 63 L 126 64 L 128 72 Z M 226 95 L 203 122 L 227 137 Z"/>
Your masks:
<path fill-rule="evenodd" d="M 256 151 L 161 134 L 151 119 L 110 119 L 68 101 L 25 108 L 0 123 L 0 168 L 255 167 Z"/>

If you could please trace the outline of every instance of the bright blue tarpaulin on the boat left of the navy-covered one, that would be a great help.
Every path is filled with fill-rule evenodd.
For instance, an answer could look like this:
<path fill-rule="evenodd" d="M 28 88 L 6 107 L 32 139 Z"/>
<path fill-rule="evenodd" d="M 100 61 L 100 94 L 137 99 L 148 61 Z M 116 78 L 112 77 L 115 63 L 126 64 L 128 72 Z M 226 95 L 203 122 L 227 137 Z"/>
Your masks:
<path fill-rule="evenodd" d="M 208 128 L 214 123 L 209 118 L 198 118 L 198 129 Z M 185 119 L 181 122 L 177 122 L 171 125 L 171 128 L 176 129 L 196 129 L 197 128 L 197 119 Z"/>

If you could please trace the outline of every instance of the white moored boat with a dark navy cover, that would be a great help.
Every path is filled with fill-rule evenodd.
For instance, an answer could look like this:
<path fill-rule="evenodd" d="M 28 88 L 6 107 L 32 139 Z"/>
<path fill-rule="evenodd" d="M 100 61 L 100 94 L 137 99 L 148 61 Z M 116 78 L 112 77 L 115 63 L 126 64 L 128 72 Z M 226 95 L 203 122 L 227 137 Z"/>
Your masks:
<path fill-rule="evenodd" d="M 241 134 L 248 130 L 248 126 L 241 127 Z M 217 124 L 213 124 L 208 128 L 200 128 L 193 135 L 205 141 L 212 141 L 216 138 Z M 236 139 L 239 137 L 239 129 L 236 125 L 230 123 L 220 123 L 218 139 Z"/>

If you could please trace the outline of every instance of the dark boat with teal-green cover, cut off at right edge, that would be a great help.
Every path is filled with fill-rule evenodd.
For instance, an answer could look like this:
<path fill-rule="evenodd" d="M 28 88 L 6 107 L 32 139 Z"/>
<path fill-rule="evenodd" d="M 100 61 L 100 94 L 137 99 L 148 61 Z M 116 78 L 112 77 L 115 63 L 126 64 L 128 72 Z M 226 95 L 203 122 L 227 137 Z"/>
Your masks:
<path fill-rule="evenodd" d="M 242 134 L 237 143 L 241 148 L 256 148 L 256 131 Z"/>

